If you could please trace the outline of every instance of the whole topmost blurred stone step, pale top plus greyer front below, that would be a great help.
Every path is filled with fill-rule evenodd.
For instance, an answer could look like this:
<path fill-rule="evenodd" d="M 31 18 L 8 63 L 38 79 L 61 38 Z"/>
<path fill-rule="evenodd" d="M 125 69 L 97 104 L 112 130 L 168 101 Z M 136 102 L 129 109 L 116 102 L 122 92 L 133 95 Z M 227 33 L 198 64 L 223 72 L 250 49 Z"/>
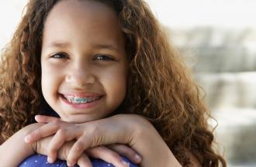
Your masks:
<path fill-rule="evenodd" d="M 195 72 L 256 70 L 256 29 L 166 29 L 171 42 L 193 64 Z"/>

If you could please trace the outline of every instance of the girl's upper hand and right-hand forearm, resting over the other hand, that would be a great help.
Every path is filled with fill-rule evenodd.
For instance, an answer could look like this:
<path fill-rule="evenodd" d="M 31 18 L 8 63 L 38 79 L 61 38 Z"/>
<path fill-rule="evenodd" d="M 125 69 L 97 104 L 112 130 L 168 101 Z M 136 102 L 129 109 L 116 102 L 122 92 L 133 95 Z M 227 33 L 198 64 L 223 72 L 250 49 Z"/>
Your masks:
<path fill-rule="evenodd" d="M 138 115 L 118 114 L 102 120 L 64 126 L 64 128 L 61 128 L 63 121 L 50 122 L 49 117 L 42 116 L 40 119 L 47 124 L 28 135 L 27 141 L 33 143 L 56 133 L 50 144 L 50 152 L 57 152 L 60 148 L 58 143 L 75 139 L 67 155 L 67 162 L 71 164 L 77 162 L 78 157 L 87 148 L 119 143 L 129 145 L 142 156 L 140 163 L 142 167 L 181 166 L 153 125 Z"/>

